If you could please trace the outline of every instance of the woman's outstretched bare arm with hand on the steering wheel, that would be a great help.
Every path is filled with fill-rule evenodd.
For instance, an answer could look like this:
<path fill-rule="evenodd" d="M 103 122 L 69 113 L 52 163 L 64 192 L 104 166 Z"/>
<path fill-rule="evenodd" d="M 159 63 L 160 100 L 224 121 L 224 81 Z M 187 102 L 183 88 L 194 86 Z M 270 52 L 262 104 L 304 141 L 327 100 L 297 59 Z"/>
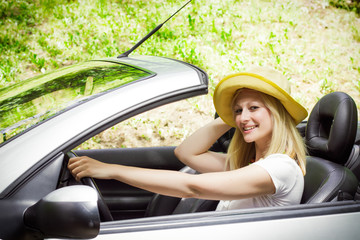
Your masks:
<path fill-rule="evenodd" d="M 268 172 L 256 165 L 233 171 L 191 175 L 76 157 L 69 160 L 68 168 L 77 180 L 87 176 L 115 179 L 134 187 L 175 197 L 234 200 L 275 192 Z"/>

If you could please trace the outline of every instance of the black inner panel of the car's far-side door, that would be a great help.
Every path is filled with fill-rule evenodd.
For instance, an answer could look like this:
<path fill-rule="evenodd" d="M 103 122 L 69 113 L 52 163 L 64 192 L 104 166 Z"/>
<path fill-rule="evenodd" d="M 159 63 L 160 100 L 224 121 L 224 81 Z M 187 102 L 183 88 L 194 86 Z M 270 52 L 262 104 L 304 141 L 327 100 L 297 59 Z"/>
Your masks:
<path fill-rule="evenodd" d="M 118 148 L 77 150 L 78 156 L 89 156 L 105 163 L 178 171 L 184 164 L 174 155 L 175 147 Z M 144 217 L 153 193 L 115 180 L 95 179 L 114 219 Z"/>

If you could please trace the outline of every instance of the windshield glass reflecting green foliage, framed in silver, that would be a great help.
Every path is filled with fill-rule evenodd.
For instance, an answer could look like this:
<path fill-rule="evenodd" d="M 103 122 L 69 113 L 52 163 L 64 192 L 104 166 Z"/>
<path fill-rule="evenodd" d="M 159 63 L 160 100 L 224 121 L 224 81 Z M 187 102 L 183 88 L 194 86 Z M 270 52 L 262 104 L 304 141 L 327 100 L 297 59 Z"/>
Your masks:
<path fill-rule="evenodd" d="M 0 89 L 0 143 L 66 108 L 154 75 L 132 66 L 89 61 Z"/>

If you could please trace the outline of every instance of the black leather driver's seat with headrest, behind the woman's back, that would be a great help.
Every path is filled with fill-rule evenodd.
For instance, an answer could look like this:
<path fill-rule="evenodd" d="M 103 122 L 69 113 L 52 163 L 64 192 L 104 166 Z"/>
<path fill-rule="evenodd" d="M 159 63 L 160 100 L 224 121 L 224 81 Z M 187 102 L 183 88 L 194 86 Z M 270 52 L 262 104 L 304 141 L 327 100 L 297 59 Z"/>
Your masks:
<path fill-rule="evenodd" d="M 354 148 L 357 109 L 343 92 L 321 98 L 306 126 L 307 174 L 302 203 L 353 199 L 358 179 L 344 165 Z"/>

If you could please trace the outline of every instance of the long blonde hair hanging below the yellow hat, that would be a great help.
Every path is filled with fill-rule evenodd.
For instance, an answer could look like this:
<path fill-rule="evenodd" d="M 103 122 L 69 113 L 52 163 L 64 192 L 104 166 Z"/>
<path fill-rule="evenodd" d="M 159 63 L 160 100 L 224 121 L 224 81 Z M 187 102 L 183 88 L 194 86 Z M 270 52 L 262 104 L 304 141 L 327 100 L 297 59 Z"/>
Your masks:
<path fill-rule="evenodd" d="M 232 106 L 240 93 L 241 89 L 235 93 Z M 306 150 L 303 139 L 296 129 L 295 121 L 278 99 L 262 92 L 258 93 L 264 101 L 265 106 L 270 110 L 273 120 L 273 134 L 267 151 L 264 153 L 264 157 L 275 153 L 286 154 L 295 159 L 303 175 L 305 175 Z M 236 128 L 228 149 L 227 166 L 230 170 L 245 167 L 249 165 L 250 161 L 254 158 L 255 143 L 245 142 L 240 130 Z"/>

